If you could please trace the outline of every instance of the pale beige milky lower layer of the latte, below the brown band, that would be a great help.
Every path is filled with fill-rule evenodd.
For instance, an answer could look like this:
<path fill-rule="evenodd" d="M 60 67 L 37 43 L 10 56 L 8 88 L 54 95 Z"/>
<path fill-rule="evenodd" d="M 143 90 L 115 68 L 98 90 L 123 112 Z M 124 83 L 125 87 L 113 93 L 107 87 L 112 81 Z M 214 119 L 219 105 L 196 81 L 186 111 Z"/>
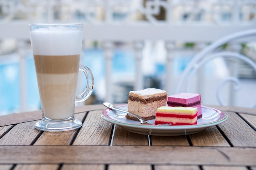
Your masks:
<path fill-rule="evenodd" d="M 49 119 L 67 119 L 74 113 L 78 73 L 37 74 L 41 106 Z"/>

